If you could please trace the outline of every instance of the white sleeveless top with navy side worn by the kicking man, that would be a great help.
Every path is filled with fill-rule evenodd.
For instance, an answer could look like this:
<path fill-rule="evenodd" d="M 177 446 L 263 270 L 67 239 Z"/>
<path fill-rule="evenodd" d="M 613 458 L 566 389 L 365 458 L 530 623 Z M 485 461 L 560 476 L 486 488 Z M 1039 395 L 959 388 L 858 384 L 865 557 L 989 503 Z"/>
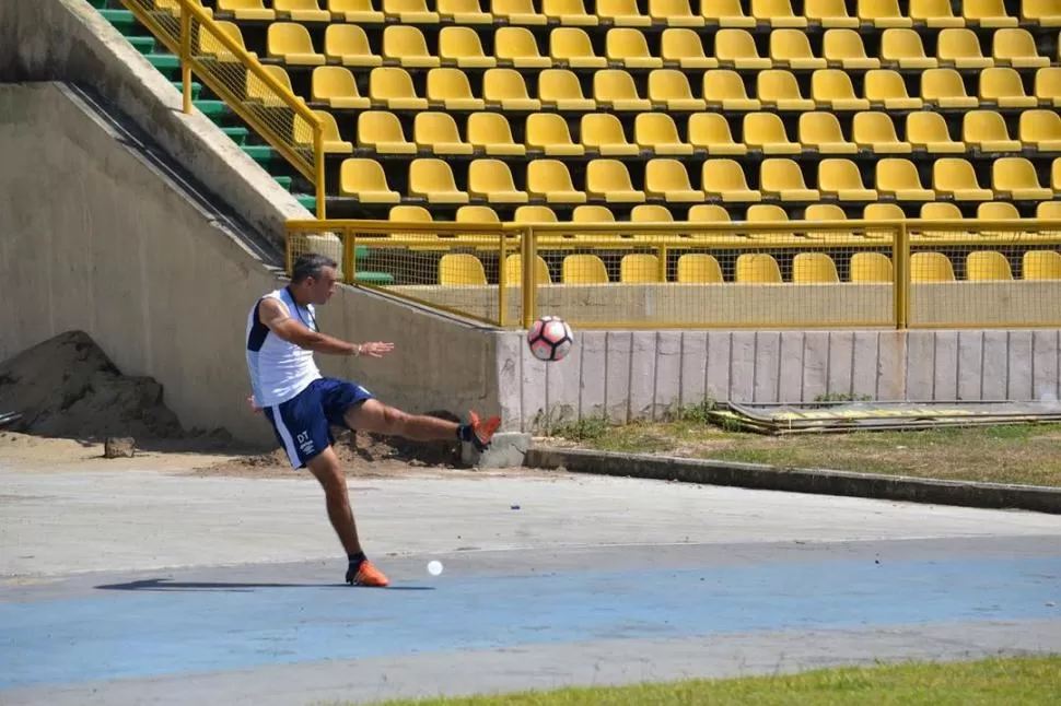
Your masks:
<path fill-rule="evenodd" d="M 258 318 L 258 307 L 266 298 L 280 299 L 292 318 L 313 331 L 317 330 L 313 305 L 298 306 L 287 287 L 255 302 L 247 317 L 247 370 L 254 402 L 259 408 L 287 402 L 322 377 L 313 351 L 284 341 Z"/>

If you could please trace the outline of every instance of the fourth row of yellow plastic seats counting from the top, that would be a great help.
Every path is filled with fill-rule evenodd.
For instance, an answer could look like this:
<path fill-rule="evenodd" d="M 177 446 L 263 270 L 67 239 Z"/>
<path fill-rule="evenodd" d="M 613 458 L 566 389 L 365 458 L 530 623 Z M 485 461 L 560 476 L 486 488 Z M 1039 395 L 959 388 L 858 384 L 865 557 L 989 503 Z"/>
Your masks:
<path fill-rule="evenodd" d="M 523 127 L 523 143 L 516 143 L 512 138 L 512 127 L 517 121 Z M 418 113 L 412 120 L 412 139 L 409 140 L 398 116 L 385 110 L 366 110 L 358 115 L 357 146 L 378 154 L 471 155 L 478 151 L 515 156 L 540 153 L 575 157 L 595 152 L 605 156 L 644 153 L 691 156 L 697 152 L 743 155 L 750 151 L 856 154 L 861 150 L 876 154 L 910 154 L 914 149 L 928 151 L 930 148 L 935 153 L 1061 151 L 1061 115 L 1054 110 L 1024 113 L 1018 123 L 1019 139 L 1010 136 L 1000 114 L 971 110 L 963 117 L 959 141 L 951 139 L 946 121 L 935 113 L 908 115 L 903 121 L 908 139 L 902 140 L 891 117 L 881 111 L 856 113 L 850 140 L 831 113 L 802 114 L 796 141 L 789 139 L 784 122 L 772 113 L 745 114 L 739 122 L 741 141 L 734 140 L 728 121 L 719 113 L 695 113 L 680 130 L 669 114 L 641 113 L 633 120 L 632 142 L 627 139 L 619 119 L 607 113 L 582 116 L 578 123 L 578 139 L 572 137 L 567 119 L 556 113 L 535 113 L 525 119 L 474 113 L 460 122 L 465 123 L 463 131 L 448 113 Z M 349 153 L 353 144 L 345 143 L 341 149 L 334 149 Z"/>

